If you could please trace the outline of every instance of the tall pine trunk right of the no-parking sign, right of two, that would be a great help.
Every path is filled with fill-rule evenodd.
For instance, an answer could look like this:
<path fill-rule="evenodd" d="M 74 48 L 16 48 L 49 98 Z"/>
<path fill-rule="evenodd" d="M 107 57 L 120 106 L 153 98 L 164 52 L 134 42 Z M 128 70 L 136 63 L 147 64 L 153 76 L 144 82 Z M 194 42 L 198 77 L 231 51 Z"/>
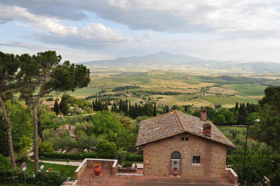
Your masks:
<path fill-rule="evenodd" d="M 35 174 L 39 171 L 39 149 L 38 149 L 38 118 L 37 108 L 41 97 L 41 91 L 37 95 L 33 108 L 33 127 L 34 127 L 34 172 Z"/>

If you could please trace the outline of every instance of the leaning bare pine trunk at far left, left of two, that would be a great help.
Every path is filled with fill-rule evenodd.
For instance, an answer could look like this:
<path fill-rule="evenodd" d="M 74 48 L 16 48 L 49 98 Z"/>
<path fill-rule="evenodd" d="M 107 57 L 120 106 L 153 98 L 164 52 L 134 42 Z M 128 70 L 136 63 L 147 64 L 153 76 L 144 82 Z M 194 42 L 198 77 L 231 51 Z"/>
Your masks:
<path fill-rule="evenodd" d="M 9 146 L 9 151 L 10 151 L 11 163 L 12 163 L 13 167 L 16 168 L 16 161 L 15 161 L 15 156 L 14 156 L 13 142 L 12 142 L 11 122 L 7 116 L 7 111 L 6 111 L 5 105 L 4 105 L 1 97 L 0 97 L 0 105 L 2 107 L 5 121 L 7 122 L 7 125 L 8 125 L 8 127 L 7 127 L 8 128 L 8 146 Z"/>

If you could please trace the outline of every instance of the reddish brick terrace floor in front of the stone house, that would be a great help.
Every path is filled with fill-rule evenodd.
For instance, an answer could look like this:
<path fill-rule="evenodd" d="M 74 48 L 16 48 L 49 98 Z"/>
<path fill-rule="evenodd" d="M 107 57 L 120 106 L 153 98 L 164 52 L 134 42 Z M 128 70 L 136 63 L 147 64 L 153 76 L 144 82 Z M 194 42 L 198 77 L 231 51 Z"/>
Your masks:
<path fill-rule="evenodd" d="M 165 177 L 165 176 L 133 176 L 133 175 L 112 175 L 111 168 L 102 168 L 101 174 L 96 176 L 92 167 L 87 167 L 81 174 L 82 179 L 102 180 L 126 180 L 126 181 L 147 181 L 147 182 L 169 182 L 169 183 L 200 183 L 200 184 L 233 184 L 229 178 L 186 178 L 186 177 Z"/>

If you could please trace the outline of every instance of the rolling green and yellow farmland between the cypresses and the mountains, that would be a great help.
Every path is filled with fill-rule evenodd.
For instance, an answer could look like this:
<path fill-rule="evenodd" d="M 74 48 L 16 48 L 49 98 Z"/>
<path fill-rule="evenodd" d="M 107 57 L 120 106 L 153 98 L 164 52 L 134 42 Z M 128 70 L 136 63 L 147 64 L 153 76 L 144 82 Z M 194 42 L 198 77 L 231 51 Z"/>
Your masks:
<path fill-rule="evenodd" d="M 91 74 L 91 82 L 88 87 L 66 93 L 78 98 L 86 98 L 99 93 L 102 96 L 99 97 L 101 101 L 127 99 L 132 104 L 145 102 L 147 98 L 150 98 L 150 100 L 157 101 L 158 104 L 169 106 L 191 104 L 199 107 L 214 107 L 215 104 L 221 104 L 222 107 L 230 108 L 234 107 L 236 102 L 258 103 L 258 100 L 264 96 L 265 85 L 280 84 L 280 78 L 277 79 L 278 74 L 271 75 L 274 79 L 266 79 L 265 75 L 258 77 L 256 74 L 224 76 L 222 74 L 188 74 L 163 70 L 130 74 L 94 72 Z M 242 79 L 242 77 L 244 78 Z M 250 77 L 253 78 L 250 79 Z M 236 80 L 238 78 L 242 82 L 238 82 Z M 258 78 L 261 80 L 259 81 Z M 247 83 L 246 80 L 253 83 Z M 139 87 L 121 88 L 112 92 L 113 88 L 122 86 Z M 105 92 L 101 93 L 101 90 L 105 90 Z M 135 92 L 138 96 L 127 94 L 128 91 Z M 156 91 L 160 94 L 155 94 Z M 164 92 L 177 92 L 179 95 L 162 95 Z M 60 93 L 60 95 L 62 94 Z M 91 98 L 87 101 L 92 102 L 95 99 Z"/>

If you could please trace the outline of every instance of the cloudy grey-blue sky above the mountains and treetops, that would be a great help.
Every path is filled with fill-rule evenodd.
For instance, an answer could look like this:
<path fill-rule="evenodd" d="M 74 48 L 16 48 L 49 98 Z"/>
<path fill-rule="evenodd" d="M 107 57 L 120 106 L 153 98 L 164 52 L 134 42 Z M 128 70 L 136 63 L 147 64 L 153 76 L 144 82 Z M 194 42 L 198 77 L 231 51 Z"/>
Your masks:
<path fill-rule="evenodd" d="M 1 0 L 0 51 L 280 62 L 279 0 Z"/>

